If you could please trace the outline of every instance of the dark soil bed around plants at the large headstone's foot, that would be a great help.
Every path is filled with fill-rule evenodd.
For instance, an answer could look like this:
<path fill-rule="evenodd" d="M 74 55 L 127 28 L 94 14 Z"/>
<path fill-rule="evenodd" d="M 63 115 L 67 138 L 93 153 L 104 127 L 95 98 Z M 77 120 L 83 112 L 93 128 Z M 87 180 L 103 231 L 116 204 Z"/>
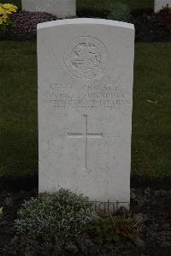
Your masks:
<path fill-rule="evenodd" d="M 171 255 L 171 188 L 131 188 L 131 216 L 144 224 L 129 246 L 105 245 L 90 234 L 80 235 L 76 241 L 37 241 L 27 235 L 17 235 L 14 220 L 24 199 L 38 193 L 35 188 L 0 188 L 0 255 Z"/>

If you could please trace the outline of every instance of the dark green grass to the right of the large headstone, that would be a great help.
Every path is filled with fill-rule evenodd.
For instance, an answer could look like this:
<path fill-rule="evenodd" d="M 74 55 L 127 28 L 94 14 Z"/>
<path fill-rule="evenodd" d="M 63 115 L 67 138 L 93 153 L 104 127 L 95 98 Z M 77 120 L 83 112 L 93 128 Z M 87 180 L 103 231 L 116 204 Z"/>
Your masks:
<path fill-rule="evenodd" d="M 133 89 L 132 172 L 171 176 L 171 43 L 138 43 Z"/>

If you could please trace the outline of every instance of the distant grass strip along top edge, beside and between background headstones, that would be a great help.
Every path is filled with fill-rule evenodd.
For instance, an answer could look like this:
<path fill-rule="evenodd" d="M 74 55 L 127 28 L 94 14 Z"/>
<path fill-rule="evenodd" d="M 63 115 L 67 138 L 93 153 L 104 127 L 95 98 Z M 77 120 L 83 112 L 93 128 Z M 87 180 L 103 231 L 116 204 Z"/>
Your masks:
<path fill-rule="evenodd" d="M 109 12 L 109 3 L 116 0 L 76 0 L 78 15 L 102 15 Z M 154 9 L 154 0 L 117 0 L 125 1 L 133 12 Z M 14 3 L 21 8 L 21 0 L 0 0 L 0 3 Z"/>

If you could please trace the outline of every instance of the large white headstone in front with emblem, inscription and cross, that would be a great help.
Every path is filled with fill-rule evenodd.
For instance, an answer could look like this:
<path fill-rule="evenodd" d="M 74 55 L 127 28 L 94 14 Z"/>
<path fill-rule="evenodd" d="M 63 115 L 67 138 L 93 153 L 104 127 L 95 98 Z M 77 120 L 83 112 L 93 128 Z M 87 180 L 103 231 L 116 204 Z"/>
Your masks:
<path fill-rule="evenodd" d="M 130 201 L 134 27 L 38 24 L 39 192 Z"/>

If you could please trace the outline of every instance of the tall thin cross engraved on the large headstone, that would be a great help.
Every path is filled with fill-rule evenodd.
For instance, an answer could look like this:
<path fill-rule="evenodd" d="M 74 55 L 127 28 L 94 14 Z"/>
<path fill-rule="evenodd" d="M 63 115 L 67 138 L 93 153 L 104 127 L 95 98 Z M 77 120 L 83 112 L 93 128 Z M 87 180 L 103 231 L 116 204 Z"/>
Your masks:
<path fill-rule="evenodd" d="M 90 134 L 88 133 L 88 116 L 87 115 L 83 115 L 84 119 L 85 119 L 85 133 L 83 134 L 70 134 L 68 133 L 68 138 L 78 138 L 78 139 L 82 139 L 85 138 L 85 168 L 83 168 L 84 170 L 88 170 L 87 168 L 87 144 L 88 144 L 88 139 L 102 139 L 103 137 L 103 133 L 101 134 Z"/>

